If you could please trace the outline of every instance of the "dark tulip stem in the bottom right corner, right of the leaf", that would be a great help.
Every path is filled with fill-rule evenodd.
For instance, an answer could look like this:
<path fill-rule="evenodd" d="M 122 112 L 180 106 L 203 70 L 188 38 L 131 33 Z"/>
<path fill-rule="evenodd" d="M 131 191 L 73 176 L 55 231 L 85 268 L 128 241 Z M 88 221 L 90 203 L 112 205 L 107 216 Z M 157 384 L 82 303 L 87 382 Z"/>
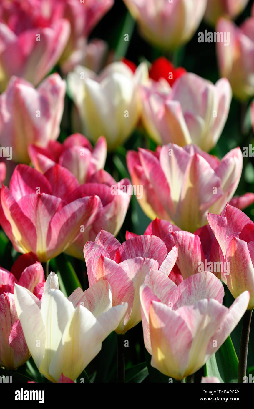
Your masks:
<path fill-rule="evenodd" d="M 247 372 L 247 355 L 248 355 L 248 344 L 250 335 L 250 322 L 252 319 L 252 311 L 247 310 L 243 316 L 243 328 L 241 335 L 241 344 L 239 352 L 239 364 L 238 364 L 238 383 L 243 382 L 243 378 L 246 376 Z"/>

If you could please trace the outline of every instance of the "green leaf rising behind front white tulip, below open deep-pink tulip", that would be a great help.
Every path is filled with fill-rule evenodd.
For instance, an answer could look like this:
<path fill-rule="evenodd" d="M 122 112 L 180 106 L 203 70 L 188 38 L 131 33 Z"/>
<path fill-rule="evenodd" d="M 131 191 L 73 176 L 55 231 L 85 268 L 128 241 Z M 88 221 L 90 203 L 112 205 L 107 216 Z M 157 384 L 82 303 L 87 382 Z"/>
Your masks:
<path fill-rule="evenodd" d="M 65 296 L 69 297 L 69 295 L 72 294 L 76 288 L 82 288 L 74 268 L 72 267 L 70 261 L 68 261 L 65 254 L 60 254 L 56 257 L 55 266 L 57 270 L 59 287 Z"/>

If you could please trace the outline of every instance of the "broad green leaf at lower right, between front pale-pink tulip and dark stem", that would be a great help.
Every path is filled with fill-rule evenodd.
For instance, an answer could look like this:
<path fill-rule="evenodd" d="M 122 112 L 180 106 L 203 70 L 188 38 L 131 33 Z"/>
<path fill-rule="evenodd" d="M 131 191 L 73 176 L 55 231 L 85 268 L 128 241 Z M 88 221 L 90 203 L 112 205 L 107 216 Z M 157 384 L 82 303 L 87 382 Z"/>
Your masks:
<path fill-rule="evenodd" d="M 206 376 L 217 376 L 220 382 L 237 382 L 238 358 L 230 336 L 206 363 Z"/>

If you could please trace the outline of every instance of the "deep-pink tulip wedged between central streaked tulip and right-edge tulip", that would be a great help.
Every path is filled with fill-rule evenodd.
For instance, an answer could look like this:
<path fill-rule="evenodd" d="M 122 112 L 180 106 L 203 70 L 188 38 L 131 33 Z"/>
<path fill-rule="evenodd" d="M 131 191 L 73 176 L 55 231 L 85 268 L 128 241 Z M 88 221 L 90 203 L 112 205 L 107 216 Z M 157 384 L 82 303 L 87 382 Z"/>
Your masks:
<path fill-rule="evenodd" d="M 167 220 L 155 219 L 147 227 L 144 235 L 160 237 L 168 251 L 178 248 L 178 258 L 169 279 L 179 285 L 187 277 L 202 271 L 213 272 L 220 278 L 220 254 L 218 242 L 209 225 L 194 232 L 183 231 Z M 126 239 L 136 235 L 126 232 Z"/>

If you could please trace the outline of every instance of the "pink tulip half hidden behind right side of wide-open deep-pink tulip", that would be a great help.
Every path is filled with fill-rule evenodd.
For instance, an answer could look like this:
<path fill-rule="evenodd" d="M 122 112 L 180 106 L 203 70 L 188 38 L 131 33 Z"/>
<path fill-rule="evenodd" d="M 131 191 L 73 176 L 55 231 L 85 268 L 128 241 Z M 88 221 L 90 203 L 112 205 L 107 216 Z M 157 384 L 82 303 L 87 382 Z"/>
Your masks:
<path fill-rule="evenodd" d="M 117 236 L 124 222 L 130 203 L 131 184 L 128 179 L 116 182 L 106 171 L 95 172 L 88 183 L 76 188 L 70 198 L 77 200 L 88 195 L 96 195 L 101 200 L 97 217 L 88 226 L 81 228 L 81 233 L 65 252 L 83 260 L 83 248 L 88 240 L 94 241 L 101 229 Z"/>

